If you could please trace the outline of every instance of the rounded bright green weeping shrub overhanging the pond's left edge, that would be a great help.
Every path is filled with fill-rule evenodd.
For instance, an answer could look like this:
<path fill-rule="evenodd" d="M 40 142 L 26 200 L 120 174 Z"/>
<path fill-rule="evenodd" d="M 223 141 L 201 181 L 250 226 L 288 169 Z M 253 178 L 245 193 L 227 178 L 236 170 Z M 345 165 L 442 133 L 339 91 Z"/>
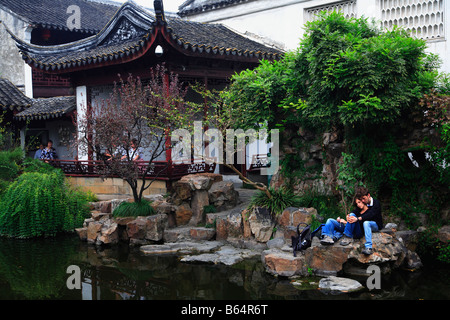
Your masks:
<path fill-rule="evenodd" d="M 0 235 L 15 238 L 55 236 L 82 226 L 86 199 L 67 184 L 61 171 L 27 172 L 13 182 L 0 202 Z"/>

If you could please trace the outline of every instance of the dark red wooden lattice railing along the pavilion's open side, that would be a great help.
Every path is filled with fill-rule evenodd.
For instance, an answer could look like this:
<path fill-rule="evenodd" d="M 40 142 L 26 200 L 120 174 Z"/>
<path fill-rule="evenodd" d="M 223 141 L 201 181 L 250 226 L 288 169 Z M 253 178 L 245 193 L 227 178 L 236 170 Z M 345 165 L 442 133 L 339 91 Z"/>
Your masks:
<path fill-rule="evenodd" d="M 115 177 L 108 174 L 108 168 L 104 161 L 99 160 L 47 160 L 55 168 L 60 168 L 66 176 L 71 177 Z M 195 173 L 214 172 L 215 163 L 198 162 L 191 164 L 170 164 L 167 161 L 139 161 L 135 163 L 138 172 L 142 175 L 151 165 L 147 173 L 147 179 L 175 180 L 182 176 Z"/>

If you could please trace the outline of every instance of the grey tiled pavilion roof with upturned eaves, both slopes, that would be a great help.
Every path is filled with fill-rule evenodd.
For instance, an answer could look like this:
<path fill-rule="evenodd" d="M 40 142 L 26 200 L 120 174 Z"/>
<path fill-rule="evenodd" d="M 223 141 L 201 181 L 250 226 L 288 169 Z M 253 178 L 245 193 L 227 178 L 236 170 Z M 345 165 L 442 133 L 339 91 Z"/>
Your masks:
<path fill-rule="evenodd" d="M 0 0 L 1 1 L 1 0 Z M 250 40 L 220 24 L 204 24 L 166 17 L 168 41 L 179 50 L 220 59 L 275 60 L 281 50 Z M 59 46 L 39 47 L 18 39 L 24 60 L 35 68 L 58 71 L 76 67 L 90 68 L 102 62 L 146 52 L 155 39 L 157 22 L 147 9 L 127 2 L 95 36 Z"/>

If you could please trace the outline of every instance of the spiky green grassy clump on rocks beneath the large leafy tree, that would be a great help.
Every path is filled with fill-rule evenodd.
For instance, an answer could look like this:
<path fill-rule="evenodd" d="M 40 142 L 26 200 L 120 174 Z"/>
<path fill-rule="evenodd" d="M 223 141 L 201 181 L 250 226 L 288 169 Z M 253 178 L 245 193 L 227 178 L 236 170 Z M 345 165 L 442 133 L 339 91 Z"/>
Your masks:
<path fill-rule="evenodd" d="M 288 207 L 298 207 L 300 198 L 287 188 L 269 188 L 271 198 L 263 191 L 256 192 L 250 200 L 249 208 L 267 208 L 273 216 L 281 214 Z"/>

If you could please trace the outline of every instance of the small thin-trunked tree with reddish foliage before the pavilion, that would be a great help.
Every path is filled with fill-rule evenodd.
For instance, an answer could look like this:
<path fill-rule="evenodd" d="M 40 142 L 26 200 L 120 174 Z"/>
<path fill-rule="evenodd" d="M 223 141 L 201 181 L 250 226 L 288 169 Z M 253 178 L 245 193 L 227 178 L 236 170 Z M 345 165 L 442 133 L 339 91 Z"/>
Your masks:
<path fill-rule="evenodd" d="M 85 116 L 75 120 L 79 150 L 102 161 L 103 177 L 126 180 L 135 202 L 170 165 L 155 165 L 172 147 L 170 132 L 189 130 L 202 108 L 185 100 L 187 88 L 164 66 L 153 68 L 145 82 L 120 78 L 108 99 L 86 107 Z"/>

